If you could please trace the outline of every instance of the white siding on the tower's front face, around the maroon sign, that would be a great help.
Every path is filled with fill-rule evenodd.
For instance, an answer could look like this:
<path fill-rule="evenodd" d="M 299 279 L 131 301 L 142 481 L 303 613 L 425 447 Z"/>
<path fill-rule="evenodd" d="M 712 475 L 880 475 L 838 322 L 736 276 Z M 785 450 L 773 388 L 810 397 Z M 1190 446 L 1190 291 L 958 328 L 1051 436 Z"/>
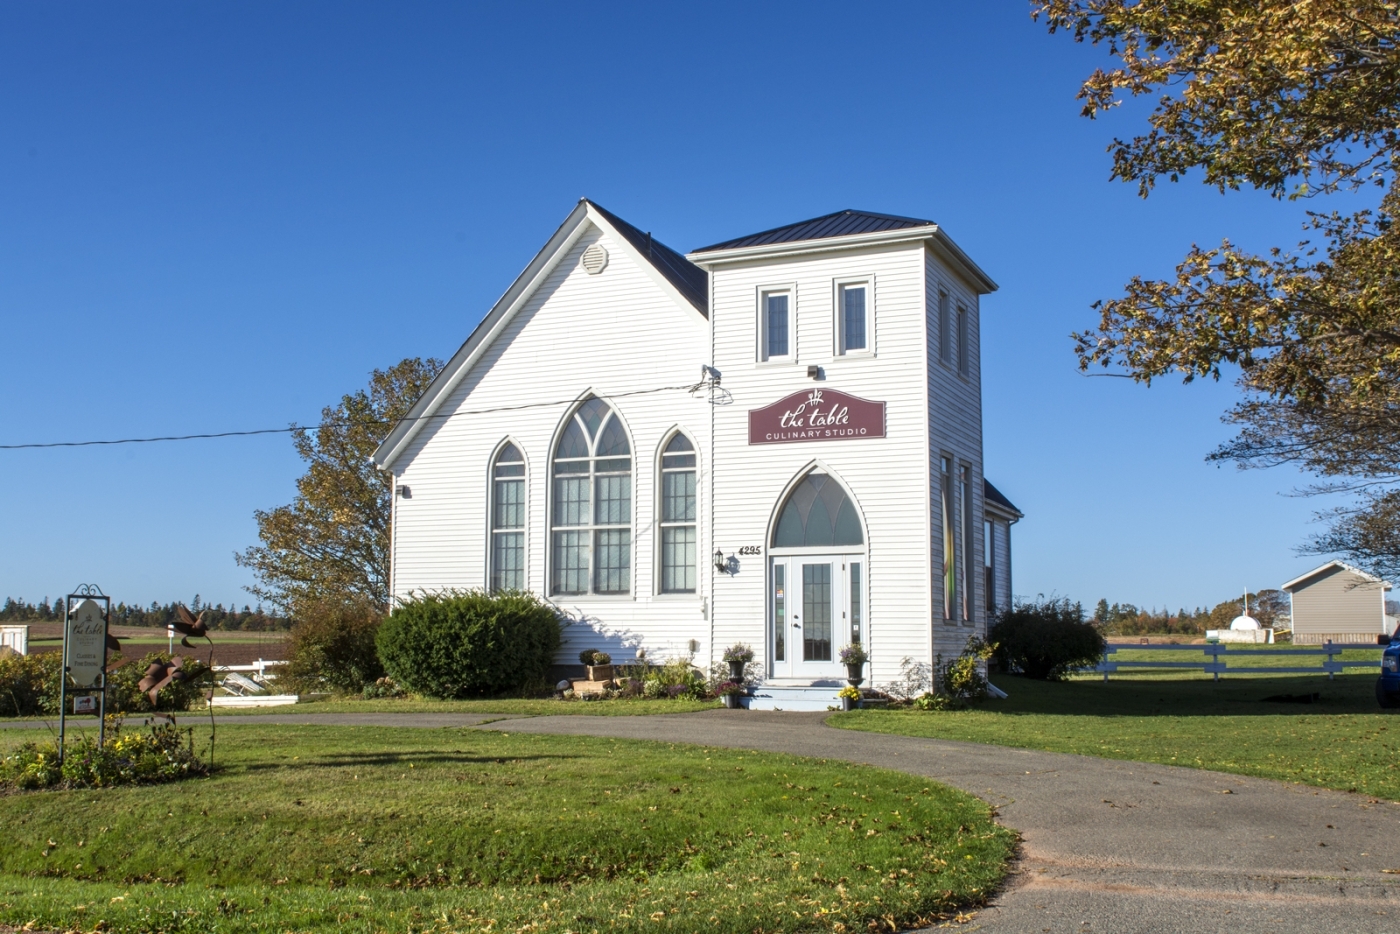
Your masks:
<path fill-rule="evenodd" d="M 874 354 L 834 354 L 833 280 L 871 276 Z M 813 461 L 850 490 L 867 527 L 871 681 L 889 682 L 900 658 L 928 660 L 928 420 L 923 246 L 825 253 L 720 266 L 711 277 L 714 365 L 732 405 L 715 407 L 714 541 L 728 553 L 769 546 L 783 492 Z M 757 293 L 795 284 L 797 357 L 759 364 Z M 823 381 L 806 367 L 825 370 Z M 886 437 L 748 444 L 748 412 L 816 386 L 886 403 Z M 980 459 L 980 458 L 979 458 Z M 980 478 L 980 471 L 979 471 Z M 980 479 L 979 479 L 980 483 Z M 714 583 L 715 644 L 746 641 L 767 662 L 767 560 L 739 560 Z"/>

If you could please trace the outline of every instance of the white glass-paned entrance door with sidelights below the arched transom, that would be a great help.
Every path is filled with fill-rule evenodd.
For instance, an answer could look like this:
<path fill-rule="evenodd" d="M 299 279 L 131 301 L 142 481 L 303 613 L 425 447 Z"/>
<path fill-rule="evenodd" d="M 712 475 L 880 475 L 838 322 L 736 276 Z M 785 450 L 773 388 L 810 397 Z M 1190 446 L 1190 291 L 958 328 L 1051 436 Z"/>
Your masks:
<path fill-rule="evenodd" d="M 844 678 L 839 653 L 864 641 L 865 560 L 857 555 L 791 555 L 769 567 L 774 678 Z"/>

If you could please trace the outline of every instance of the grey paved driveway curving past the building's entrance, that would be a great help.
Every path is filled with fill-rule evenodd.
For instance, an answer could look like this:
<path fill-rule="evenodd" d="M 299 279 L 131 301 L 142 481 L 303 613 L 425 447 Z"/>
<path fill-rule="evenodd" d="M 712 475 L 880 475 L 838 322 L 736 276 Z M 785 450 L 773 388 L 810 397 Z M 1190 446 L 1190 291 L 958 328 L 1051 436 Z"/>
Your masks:
<path fill-rule="evenodd" d="M 1023 858 L 965 931 L 1400 931 L 1400 872 L 1383 872 L 1400 871 L 1400 804 L 1218 772 L 834 730 L 825 718 L 713 710 L 507 718 L 480 728 L 843 759 L 970 791 L 1021 832 Z M 258 714 L 223 723 L 470 727 L 484 720 Z"/>

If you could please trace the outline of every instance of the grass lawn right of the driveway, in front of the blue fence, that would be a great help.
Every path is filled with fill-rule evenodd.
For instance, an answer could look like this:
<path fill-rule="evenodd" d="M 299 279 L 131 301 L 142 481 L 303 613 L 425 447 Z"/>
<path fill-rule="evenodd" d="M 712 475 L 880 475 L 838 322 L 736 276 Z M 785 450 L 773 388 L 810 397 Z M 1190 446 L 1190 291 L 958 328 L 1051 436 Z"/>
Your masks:
<path fill-rule="evenodd" d="M 1182 655 L 1186 653 L 1177 653 Z M 830 724 L 909 737 L 1161 762 L 1355 790 L 1400 801 L 1400 717 L 1369 674 L 1114 676 L 1036 682 L 995 675 L 1011 695 L 962 711 L 855 710 Z M 1268 703 L 1320 693 L 1319 703 Z"/>

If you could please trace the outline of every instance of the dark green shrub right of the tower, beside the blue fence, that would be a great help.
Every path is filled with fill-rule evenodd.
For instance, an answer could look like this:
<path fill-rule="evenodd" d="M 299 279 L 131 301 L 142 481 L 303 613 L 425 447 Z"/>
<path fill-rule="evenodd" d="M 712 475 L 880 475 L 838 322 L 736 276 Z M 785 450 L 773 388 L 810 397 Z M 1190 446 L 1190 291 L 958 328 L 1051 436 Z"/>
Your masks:
<path fill-rule="evenodd" d="M 987 630 L 987 640 L 997 644 L 1002 668 L 1040 681 L 1060 681 L 1103 655 L 1103 634 L 1068 599 L 1016 604 Z"/>

